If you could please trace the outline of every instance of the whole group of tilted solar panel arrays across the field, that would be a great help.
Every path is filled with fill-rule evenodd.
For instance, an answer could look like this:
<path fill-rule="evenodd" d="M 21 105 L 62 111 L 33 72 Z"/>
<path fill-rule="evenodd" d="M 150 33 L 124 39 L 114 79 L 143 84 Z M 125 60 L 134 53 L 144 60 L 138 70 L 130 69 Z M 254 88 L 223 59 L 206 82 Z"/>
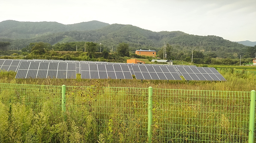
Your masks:
<path fill-rule="evenodd" d="M 24 63 L 23 63 L 24 62 Z M 21 66 L 21 67 L 20 67 Z M 92 62 L 78 60 L 0 59 L 0 69 L 17 72 L 16 78 L 154 79 L 226 81 L 215 69 L 194 65 L 156 65 Z"/>

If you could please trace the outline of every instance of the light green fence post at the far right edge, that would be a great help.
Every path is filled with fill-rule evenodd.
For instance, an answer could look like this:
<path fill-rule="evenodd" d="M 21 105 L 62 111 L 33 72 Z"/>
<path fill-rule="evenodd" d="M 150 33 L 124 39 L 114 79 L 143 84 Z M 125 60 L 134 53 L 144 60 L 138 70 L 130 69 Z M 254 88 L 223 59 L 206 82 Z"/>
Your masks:
<path fill-rule="evenodd" d="M 251 91 L 248 143 L 254 142 L 255 90 Z"/>

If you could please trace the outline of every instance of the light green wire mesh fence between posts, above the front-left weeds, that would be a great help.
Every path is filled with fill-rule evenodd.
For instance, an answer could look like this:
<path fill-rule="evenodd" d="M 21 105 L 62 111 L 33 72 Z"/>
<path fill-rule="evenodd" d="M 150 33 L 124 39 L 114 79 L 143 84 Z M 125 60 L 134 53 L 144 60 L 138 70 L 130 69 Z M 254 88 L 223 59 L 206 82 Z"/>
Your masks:
<path fill-rule="evenodd" d="M 251 92 L 153 89 L 150 141 L 148 88 L 66 86 L 65 92 L 65 113 L 61 86 L 1 83 L 0 101 L 35 113 L 50 101 L 53 116 L 94 124 L 106 142 L 248 142 Z"/>

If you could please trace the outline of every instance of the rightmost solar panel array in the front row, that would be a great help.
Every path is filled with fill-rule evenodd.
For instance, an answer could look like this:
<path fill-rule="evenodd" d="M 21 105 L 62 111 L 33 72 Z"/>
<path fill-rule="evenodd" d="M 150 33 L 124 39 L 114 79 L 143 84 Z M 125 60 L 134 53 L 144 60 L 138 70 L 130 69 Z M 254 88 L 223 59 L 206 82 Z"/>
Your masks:
<path fill-rule="evenodd" d="M 227 81 L 215 68 L 208 67 L 176 67 L 185 80 Z"/>

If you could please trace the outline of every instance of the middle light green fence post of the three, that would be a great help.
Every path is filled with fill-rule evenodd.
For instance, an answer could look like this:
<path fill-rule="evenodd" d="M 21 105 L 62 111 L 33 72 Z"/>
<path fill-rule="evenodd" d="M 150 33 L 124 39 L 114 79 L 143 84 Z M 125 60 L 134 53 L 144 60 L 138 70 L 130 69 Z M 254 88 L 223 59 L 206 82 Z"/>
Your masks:
<path fill-rule="evenodd" d="M 151 143 L 151 137 L 152 137 L 152 95 L 153 95 L 153 89 L 152 87 L 148 88 L 148 143 Z"/>

